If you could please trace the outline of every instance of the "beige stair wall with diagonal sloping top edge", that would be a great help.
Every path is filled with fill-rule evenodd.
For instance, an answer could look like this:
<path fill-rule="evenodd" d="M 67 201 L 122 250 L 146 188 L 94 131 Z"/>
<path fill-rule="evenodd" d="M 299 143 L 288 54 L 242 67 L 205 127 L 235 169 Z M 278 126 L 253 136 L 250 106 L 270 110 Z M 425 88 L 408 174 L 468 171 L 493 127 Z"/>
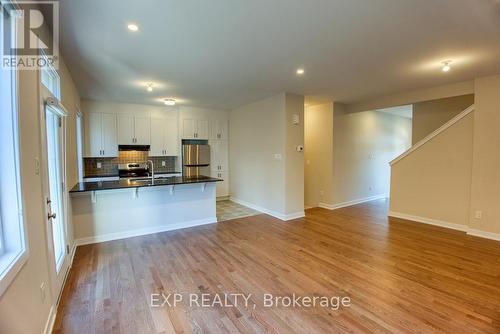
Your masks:
<path fill-rule="evenodd" d="M 473 126 L 469 114 L 392 165 L 393 215 L 467 226 Z"/>

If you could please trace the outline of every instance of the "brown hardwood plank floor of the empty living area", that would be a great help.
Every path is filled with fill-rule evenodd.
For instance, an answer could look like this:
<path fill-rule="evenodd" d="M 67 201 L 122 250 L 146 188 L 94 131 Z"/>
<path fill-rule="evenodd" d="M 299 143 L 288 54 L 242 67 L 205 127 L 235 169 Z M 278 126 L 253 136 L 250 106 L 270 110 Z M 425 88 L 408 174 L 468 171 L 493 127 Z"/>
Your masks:
<path fill-rule="evenodd" d="M 386 215 L 376 201 L 79 247 L 54 333 L 500 333 L 500 242 Z M 152 293 L 256 306 L 151 308 Z M 266 308 L 264 293 L 351 305 Z"/>

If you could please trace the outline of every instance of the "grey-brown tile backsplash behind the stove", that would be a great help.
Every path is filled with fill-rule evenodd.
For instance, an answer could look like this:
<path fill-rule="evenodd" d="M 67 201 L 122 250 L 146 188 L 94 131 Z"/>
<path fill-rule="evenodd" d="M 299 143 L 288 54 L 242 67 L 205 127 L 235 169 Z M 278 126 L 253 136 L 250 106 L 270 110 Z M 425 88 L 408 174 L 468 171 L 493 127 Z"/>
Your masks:
<path fill-rule="evenodd" d="M 155 173 L 176 172 L 177 157 L 148 157 L 148 152 L 142 151 L 120 151 L 118 154 L 117 158 L 84 158 L 85 177 L 117 176 L 118 164 L 147 160 L 153 161 Z M 162 166 L 162 161 L 165 161 L 165 166 Z M 101 163 L 101 168 L 97 168 L 97 163 Z"/>

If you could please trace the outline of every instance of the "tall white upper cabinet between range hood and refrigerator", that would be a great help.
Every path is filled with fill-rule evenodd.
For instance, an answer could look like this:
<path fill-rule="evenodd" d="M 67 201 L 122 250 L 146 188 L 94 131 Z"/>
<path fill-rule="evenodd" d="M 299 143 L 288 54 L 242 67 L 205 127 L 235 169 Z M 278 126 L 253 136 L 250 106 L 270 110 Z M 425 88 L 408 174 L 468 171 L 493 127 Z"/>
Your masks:
<path fill-rule="evenodd" d="M 151 148 L 149 155 L 152 157 L 179 155 L 176 118 L 151 118 Z"/>

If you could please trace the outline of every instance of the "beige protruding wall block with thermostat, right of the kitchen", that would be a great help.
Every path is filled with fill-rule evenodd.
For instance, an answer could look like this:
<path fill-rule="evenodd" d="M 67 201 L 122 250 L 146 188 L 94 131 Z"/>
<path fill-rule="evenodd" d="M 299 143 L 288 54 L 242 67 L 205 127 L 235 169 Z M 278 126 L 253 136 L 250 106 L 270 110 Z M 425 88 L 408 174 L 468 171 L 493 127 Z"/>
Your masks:
<path fill-rule="evenodd" d="M 299 125 L 292 125 L 297 114 Z M 303 215 L 304 97 L 282 93 L 229 113 L 231 197 L 280 219 Z"/>

